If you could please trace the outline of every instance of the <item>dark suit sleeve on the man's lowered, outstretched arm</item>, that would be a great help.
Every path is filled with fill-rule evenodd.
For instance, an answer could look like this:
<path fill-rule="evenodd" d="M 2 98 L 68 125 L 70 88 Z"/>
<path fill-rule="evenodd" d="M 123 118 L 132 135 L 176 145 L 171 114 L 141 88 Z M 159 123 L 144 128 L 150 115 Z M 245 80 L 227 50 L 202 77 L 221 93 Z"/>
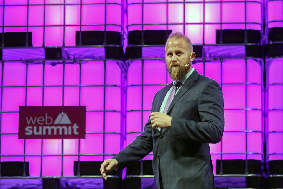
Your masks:
<path fill-rule="evenodd" d="M 121 171 L 130 163 L 144 158 L 147 154 L 149 154 L 152 151 L 152 149 L 153 149 L 152 125 L 148 118 L 148 122 L 144 126 L 144 133 L 137 136 L 136 139 L 131 144 L 129 144 L 125 149 L 123 149 L 121 152 L 119 152 L 113 157 L 118 161 L 118 167 L 116 168 L 116 171 Z"/>

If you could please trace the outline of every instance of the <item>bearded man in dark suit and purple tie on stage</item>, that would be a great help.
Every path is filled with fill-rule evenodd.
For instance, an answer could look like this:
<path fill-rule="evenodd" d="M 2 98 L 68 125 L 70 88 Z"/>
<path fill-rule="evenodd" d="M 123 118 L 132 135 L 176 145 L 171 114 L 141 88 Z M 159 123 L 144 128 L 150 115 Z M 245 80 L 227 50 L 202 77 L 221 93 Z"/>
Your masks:
<path fill-rule="evenodd" d="M 224 131 L 221 87 L 192 68 L 192 43 L 180 32 L 165 46 L 167 71 L 174 81 L 158 91 L 144 133 L 113 159 L 101 164 L 101 174 L 124 169 L 153 152 L 157 189 L 211 189 L 213 170 L 208 143 L 218 143 Z"/>

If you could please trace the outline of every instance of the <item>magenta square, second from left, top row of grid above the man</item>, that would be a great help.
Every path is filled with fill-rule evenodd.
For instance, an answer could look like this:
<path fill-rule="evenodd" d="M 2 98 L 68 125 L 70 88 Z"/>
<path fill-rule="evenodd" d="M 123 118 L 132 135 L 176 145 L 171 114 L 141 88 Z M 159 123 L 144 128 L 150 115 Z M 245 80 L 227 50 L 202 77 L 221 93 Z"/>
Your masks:
<path fill-rule="evenodd" d="M 166 23 L 166 4 L 144 4 L 144 24 Z"/>

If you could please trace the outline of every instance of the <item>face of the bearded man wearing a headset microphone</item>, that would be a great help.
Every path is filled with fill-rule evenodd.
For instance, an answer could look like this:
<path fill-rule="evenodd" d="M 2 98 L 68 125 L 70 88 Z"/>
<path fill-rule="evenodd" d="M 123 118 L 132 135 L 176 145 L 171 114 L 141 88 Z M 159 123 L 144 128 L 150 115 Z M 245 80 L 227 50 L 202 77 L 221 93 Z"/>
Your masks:
<path fill-rule="evenodd" d="M 195 53 L 192 53 L 189 45 L 183 38 L 172 38 L 168 40 L 165 47 L 165 62 L 170 78 L 180 80 L 191 69 L 191 61 L 195 58 Z M 186 64 L 189 64 L 187 67 Z"/>

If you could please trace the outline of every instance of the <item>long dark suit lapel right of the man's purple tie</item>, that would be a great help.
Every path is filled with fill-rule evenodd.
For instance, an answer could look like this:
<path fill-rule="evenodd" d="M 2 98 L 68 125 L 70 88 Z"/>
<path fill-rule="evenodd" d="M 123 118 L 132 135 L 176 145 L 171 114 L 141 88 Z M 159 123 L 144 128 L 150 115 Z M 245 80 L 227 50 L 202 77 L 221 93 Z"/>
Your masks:
<path fill-rule="evenodd" d="M 189 90 L 195 84 L 194 81 L 198 79 L 198 75 L 199 75 L 199 73 L 196 70 L 194 72 L 192 72 L 192 75 L 190 75 L 190 77 L 185 81 L 183 86 L 179 89 L 178 93 L 176 94 L 176 96 L 172 100 L 166 114 L 168 114 L 170 112 L 172 107 L 183 96 L 183 94 L 185 94 L 185 92 L 187 92 L 187 90 Z"/>

